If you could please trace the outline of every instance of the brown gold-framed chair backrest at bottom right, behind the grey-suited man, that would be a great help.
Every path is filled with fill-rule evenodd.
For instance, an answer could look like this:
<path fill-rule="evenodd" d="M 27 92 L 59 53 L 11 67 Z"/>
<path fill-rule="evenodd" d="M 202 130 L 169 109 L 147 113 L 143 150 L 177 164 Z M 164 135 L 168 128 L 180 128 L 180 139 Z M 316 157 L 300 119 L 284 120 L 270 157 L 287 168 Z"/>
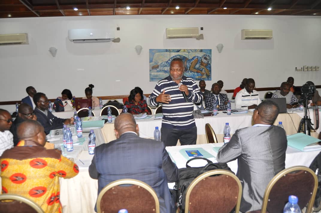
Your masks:
<path fill-rule="evenodd" d="M 308 203 L 306 212 L 311 212 L 317 185 L 317 175 L 308 167 L 292 166 L 284 169 L 267 185 L 261 212 L 268 210 L 268 212 L 282 213 L 289 195 L 298 197 L 301 209 Z"/>

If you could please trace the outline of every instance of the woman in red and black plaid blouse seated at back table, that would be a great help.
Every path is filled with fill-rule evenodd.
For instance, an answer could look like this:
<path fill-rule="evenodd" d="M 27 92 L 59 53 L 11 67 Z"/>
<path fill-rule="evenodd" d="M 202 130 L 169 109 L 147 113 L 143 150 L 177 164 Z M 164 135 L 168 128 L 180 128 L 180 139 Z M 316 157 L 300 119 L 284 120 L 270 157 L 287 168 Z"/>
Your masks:
<path fill-rule="evenodd" d="M 128 101 L 125 102 L 125 105 L 128 109 L 128 113 L 133 115 L 146 113 L 151 115 L 147 109 L 146 101 L 143 100 L 143 94 L 140 94 L 137 89 L 132 89 L 130 95 L 128 96 Z"/>

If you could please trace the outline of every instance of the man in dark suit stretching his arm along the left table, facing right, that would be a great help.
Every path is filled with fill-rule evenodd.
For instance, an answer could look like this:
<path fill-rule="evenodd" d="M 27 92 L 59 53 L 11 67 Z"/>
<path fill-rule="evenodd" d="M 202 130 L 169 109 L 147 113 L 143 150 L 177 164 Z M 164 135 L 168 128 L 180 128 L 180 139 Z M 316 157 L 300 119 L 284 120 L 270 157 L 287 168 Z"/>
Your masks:
<path fill-rule="evenodd" d="M 50 130 L 62 129 L 64 124 L 73 124 L 74 118 L 62 119 L 57 118 L 51 112 L 48 111 L 49 101 L 46 94 L 37 92 L 33 96 L 33 102 L 36 105 L 35 114 L 37 121 L 45 128 L 45 133 L 49 134 Z"/>

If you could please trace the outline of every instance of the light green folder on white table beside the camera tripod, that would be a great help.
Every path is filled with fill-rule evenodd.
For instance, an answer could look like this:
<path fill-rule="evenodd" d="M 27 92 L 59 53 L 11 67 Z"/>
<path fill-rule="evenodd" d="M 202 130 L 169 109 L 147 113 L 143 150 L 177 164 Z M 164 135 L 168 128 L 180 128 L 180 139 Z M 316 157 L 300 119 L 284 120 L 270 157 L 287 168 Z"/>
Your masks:
<path fill-rule="evenodd" d="M 288 139 L 288 146 L 291 146 L 295 149 L 299 149 L 301 151 L 306 151 L 305 148 L 312 144 L 312 143 L 316 143 L 318 141 L 320 141 L 317 138 L 314 138 L 312 136 L 303 134 L 303 133 L 296 133 L 293 135 L 289 135 L 287 136 Z M 310 150 L 317 150 L 317 149 L 321 149 L 321 146 L 316 146 L 316 149 L 310 149 Z"/>

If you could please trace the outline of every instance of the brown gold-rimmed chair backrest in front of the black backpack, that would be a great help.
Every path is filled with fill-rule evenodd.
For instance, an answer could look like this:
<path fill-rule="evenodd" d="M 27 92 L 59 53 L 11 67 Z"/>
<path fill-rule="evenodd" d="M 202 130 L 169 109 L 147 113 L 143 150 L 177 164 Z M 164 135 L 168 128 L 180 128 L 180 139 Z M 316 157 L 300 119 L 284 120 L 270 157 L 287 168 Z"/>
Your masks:
<path fill-rule="evenodd" d="M 216 176 L 212 176 L 216 175 Z M 216 169 L 199 175 L 186 191 L 185 212 L 239 212 L 242 186 L 230 171 Z"/>

